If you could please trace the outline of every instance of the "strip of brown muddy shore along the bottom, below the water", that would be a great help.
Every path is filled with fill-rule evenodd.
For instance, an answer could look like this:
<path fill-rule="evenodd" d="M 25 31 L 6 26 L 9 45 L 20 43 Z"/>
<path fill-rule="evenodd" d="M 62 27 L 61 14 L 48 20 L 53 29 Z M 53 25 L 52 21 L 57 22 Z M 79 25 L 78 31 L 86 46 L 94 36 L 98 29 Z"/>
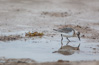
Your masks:
<path fill-rule="evenodd" d="M 0 65 L 98 65 L 99 61 L 64 61 L 58 60 L 57 62 L 42 62 L 38 63 L 28 58 L 22 59 L 6 59 L 0 58 Z"/>

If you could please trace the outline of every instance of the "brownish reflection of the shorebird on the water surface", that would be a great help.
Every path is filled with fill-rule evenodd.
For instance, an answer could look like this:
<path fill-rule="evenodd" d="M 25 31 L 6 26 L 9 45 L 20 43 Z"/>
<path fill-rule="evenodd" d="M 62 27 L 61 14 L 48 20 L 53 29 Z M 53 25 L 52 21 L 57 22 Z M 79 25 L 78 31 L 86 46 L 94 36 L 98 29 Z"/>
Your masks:
<path fill-rule="evenodd" d="M 72 55 L 77 50 L 80 50 L 79 47 L 80 47 L 80 44 L 78 45 L 78 47 L 73 47 L 73 46 L 70 46 L 70 45 L 65 45 L 65 46 L 60 47 L 58 49 L 58 51 L 54 51 L 53 53 L 60 53 L 60 54 L 63 54 L 63 55 Z"/>

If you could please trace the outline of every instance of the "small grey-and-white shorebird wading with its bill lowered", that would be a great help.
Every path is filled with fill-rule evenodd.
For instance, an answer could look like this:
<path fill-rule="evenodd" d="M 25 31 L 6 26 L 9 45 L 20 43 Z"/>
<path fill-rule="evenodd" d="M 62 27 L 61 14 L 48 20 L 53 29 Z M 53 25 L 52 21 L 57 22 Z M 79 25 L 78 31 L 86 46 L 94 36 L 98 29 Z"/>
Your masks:
<path fill-rule="evenodd" d="M 62 29 L 53 29 L 55 31 L 61 32 L 61 45 L 63 45 L 62 41 L 63 41 L 63 37 L 66 37 L 66 39 L 68 40 L 67 44 L 70 42 L 70 40 L 68 39 L 69 37 L 78 37 L 78 39 L 80 40 L 80 32 L 74 30 L 73 28 L 62 28 Z"/>

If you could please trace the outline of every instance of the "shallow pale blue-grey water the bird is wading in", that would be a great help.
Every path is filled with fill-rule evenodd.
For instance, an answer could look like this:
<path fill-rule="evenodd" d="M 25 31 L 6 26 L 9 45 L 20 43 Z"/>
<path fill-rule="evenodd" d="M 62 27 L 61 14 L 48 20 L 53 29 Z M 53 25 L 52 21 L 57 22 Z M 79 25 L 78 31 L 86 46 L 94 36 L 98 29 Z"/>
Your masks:
<path fill-rule="evenodd" d="M 71 38 L 76 40 L 70 42 L 71 46 L 78 46 L 80 43 L 80 51 L 76 51 L 72 55 L 62 55 L 59 53 L 52 53 L 57 51 L 61 44 L 60 38 L 29 38 L 27 41 L 0 41 L 0 57 L 6 58 L 31 58 L 38 62 L 51 62 L 57 60 L 69 60 L 69 61 L 80 61 L 80 60 L 99 60 L 99 48 L 98 43 L 86 43 L 84 39 L 78 41 L 77 38 Z M 64 40 L 64 45 L 67 40 Z M 95 50 L 93 48 L 96 48 Z"/>

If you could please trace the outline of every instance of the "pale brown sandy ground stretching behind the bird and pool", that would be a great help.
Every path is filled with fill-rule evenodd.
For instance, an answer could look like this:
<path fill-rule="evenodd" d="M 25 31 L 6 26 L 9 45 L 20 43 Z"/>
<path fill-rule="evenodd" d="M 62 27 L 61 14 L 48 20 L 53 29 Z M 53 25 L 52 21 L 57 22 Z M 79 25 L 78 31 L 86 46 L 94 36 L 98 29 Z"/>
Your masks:
<path fill-rule="evenodd" d="M 1 35 L 25 31 L 52 34 L 53 28 L 68 26 L 84 37 L 99 39 L 97 0 L 1 0 L 0 6 Z"/>

